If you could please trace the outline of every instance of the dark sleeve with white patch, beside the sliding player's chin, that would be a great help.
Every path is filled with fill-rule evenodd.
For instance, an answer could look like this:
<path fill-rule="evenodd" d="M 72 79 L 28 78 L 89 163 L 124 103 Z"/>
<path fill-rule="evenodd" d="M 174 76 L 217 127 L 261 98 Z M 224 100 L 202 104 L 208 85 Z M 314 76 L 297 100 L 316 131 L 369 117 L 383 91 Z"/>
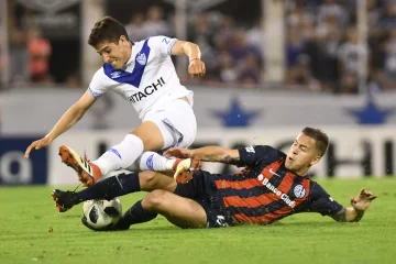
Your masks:
<path fill-rule="evenodd" d="M 268 145 L 246 146 L 239 150 L 240 160 L 249 167 L 253 167 L 260 162 L 275 162 L 286 155 Z"/>

